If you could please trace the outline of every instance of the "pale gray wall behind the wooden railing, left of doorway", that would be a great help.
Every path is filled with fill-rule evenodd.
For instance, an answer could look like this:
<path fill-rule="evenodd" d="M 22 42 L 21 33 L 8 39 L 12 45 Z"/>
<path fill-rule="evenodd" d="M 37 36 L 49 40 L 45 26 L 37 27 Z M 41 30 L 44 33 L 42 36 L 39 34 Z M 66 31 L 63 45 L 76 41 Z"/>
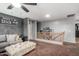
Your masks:
<path fill-rule="evenodd" d="M 64 41 L 75 43 L 74 17 L 41 22 L 41 29 L 44 27 L 50 27 L 54 32 L 65 32 Z"/>

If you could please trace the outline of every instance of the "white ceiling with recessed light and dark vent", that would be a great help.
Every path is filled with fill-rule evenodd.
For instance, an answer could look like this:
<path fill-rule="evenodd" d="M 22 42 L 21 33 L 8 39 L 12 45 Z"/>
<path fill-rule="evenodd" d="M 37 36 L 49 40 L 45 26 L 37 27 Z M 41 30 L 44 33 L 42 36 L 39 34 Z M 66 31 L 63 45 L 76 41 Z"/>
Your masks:
<path fill-rule="evenodd" d="M 32 18 L 33 20 L 55 20 L 65 18 L 68 14 L 79 15 L 79 3 L 37 3 L 37 6 L 24 5 L 30 10 L 25 12 L 21 8 L 7 9 L 9 3 L 0 3 L 0 12 L 20 18 Z M 46 18 L 45 14 L 50 14 Z M 78 17 L 77 17 L 78 18 Z"/>

